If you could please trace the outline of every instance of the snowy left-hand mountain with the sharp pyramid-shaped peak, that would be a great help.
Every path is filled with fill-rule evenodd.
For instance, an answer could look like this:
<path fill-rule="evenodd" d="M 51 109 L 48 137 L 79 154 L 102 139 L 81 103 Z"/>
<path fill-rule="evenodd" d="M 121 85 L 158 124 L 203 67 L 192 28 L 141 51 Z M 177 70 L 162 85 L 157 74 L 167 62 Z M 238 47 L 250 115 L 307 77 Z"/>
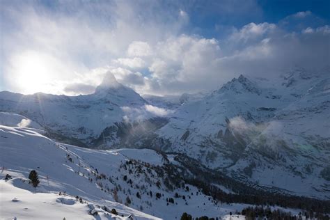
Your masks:
<path fill-rule="evenodd" d="M 111 142 L 116 143 L 120 123 L 139 122 L 166 113 L 152 107 L 131 88 L 119 84 L 111 73 L 91 95 L 0 92 L 0 111 L 26 116 L 45 127 L 49 136 L 58 139 L 65 136 L 72 139 L 70 143 L 81 146 L 93 146 L 93 141 L 100 138 L 106 128 L 111 129 Z"/>

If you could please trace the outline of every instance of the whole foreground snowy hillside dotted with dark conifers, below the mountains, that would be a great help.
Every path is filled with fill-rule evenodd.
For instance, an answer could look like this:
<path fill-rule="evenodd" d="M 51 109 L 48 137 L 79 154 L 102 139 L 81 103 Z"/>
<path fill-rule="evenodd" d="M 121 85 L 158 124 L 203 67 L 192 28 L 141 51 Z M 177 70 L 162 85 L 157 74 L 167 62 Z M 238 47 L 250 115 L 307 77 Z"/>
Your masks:
<path fill-rule="evenodd" d="M 263 196 L 269 205 L 295 207 L 272 210 L 293 214 L 301 210 L 290 200 L 305 209 L 329 205 L 245 186 L 184 155 L 80 148 L 56 143 L 40 131 L 0 125 L 0 213 L 5 219 L 179 219 L 183 212 L 230 219 L 228 213 L 258 204 Z M 32 170 L 39 175 L 36 188 L 29 184 Z"/>

